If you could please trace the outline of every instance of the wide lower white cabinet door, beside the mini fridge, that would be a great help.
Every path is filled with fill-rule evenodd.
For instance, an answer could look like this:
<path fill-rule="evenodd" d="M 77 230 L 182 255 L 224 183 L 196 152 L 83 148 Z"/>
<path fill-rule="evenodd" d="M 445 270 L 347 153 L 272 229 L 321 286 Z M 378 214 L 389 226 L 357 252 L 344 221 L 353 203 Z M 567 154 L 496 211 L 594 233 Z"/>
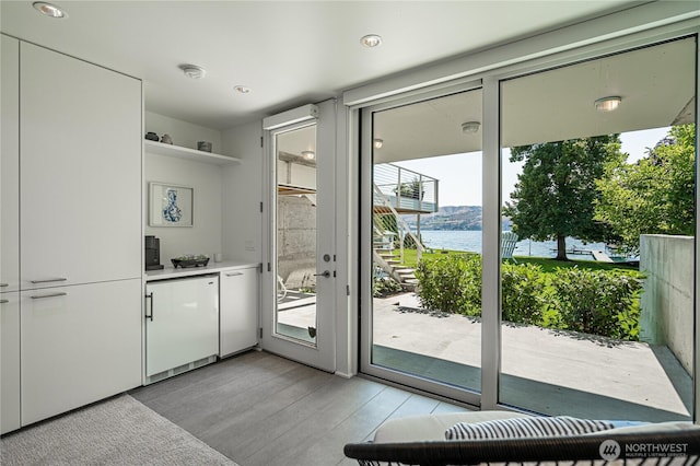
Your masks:
<path fill-rule="evenodd" d="M 22 292 L 23 426 L 141 384 L 141 286 Z"/>

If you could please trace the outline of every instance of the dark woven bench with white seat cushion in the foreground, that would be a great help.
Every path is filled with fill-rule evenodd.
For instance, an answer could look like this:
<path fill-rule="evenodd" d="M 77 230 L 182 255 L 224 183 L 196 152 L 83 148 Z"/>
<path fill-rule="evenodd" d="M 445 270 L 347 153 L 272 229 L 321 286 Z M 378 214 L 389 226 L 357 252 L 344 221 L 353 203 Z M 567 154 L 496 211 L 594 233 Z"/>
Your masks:
<path fill-rule="evenodd" d="M 505 411 L 419 416 L 385 422 L 374 441 L 350 443 L 345 454 L 360 465 L 535 464 L 700 464 L 700 426 L 662 422 L 596 433 L 491 440 L 444 440 L 457 422 L 527 417 Z"/>

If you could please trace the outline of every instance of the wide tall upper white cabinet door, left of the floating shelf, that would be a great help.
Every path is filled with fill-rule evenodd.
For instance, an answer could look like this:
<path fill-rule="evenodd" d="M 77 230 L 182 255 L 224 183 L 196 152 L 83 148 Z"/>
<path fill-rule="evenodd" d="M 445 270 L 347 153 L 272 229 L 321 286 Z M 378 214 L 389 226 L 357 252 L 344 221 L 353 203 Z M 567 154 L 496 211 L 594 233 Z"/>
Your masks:
<path fill-rule="evenodd" d="M 20 58 L 22 288 L 141 277 L 141 82 L 26 43 Z"/>

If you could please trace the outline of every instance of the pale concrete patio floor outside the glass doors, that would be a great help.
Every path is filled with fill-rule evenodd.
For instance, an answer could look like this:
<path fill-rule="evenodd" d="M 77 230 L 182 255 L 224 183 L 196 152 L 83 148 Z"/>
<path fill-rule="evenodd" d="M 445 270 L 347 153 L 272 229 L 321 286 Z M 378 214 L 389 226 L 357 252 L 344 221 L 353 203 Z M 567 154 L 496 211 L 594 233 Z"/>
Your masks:
<path fill-rule="evenodd" d="M 315 304 L 280 312 L 315 325 Z M 374 300 L 373 364 L 478 391 L 481 324 L 420 310 L 413 293 Z M 688 420 L 692 384 L 664 346 L 503 325 L 500 401 L 594 419 Z"/>

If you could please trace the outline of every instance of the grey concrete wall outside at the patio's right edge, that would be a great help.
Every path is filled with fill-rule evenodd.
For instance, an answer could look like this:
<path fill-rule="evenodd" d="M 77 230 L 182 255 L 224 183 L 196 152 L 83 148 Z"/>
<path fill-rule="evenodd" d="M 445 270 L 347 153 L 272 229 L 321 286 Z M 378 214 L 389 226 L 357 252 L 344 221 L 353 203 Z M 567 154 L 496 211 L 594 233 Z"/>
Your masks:
<path fill-rule="evenodd" d="M 646 276 L 640 340 L 667 346 L 688 373 L 692 373 L 695 329 L 693 243 L 692 236 L 640 237 L 640 271 Z"/>

